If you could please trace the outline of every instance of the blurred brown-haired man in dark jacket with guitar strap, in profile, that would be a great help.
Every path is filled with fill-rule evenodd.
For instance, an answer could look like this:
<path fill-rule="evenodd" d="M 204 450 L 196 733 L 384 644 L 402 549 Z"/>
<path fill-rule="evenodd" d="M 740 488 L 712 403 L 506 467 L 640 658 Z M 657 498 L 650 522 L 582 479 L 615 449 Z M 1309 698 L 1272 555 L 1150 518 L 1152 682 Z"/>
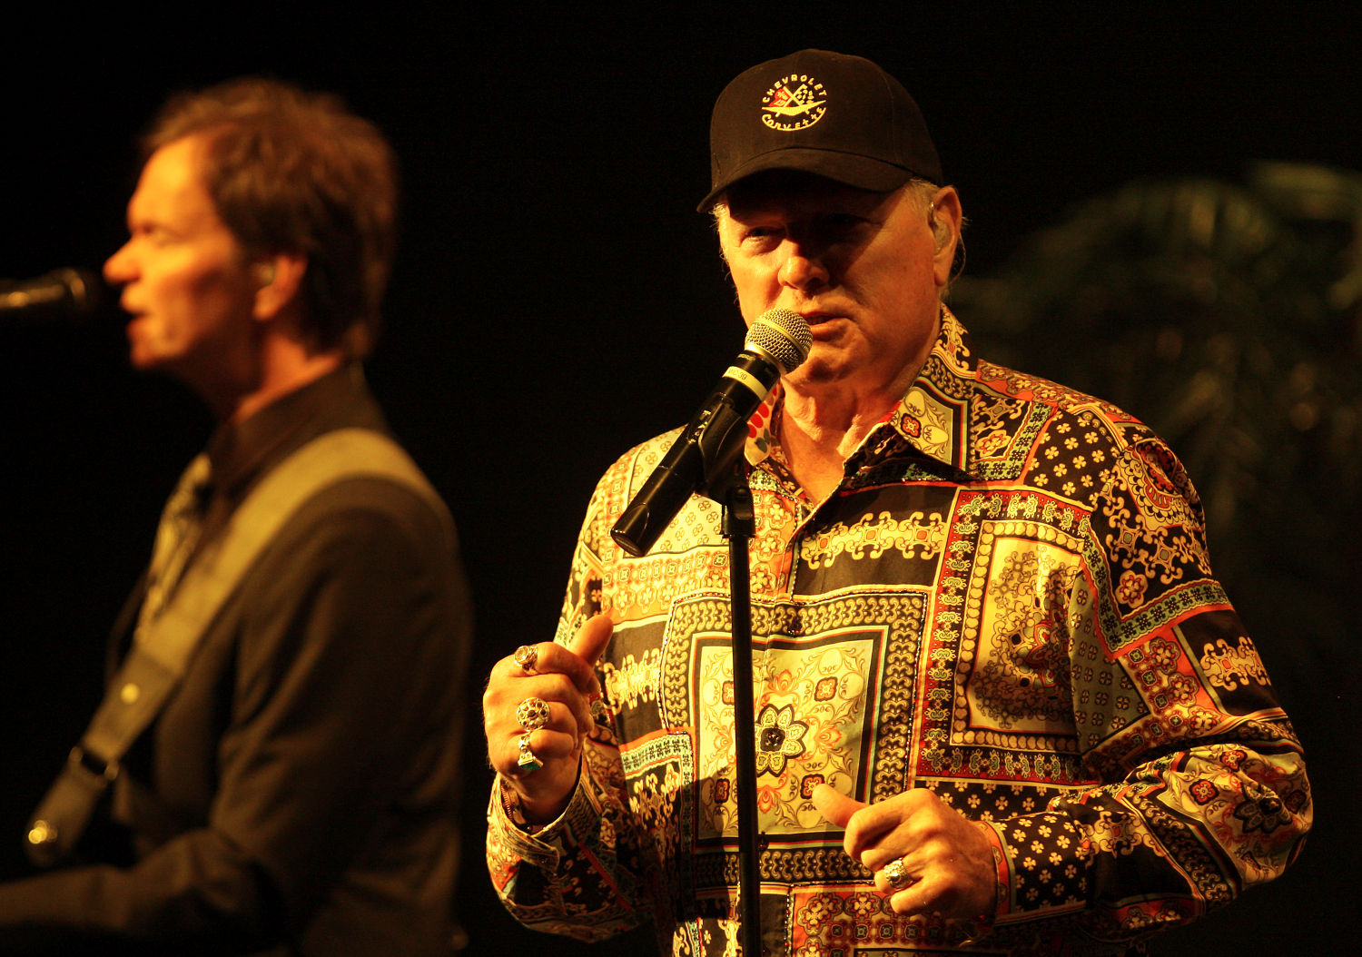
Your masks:
<path fill-rule="evenodd" d="M 360 361 L 395 246 L 383 135 L 236 80 L 170 101 L 105 265 L 135 368 L 217 430 L 104 704 L 0 886 L 0 950 L 443 954 L 471 611 Z"/>

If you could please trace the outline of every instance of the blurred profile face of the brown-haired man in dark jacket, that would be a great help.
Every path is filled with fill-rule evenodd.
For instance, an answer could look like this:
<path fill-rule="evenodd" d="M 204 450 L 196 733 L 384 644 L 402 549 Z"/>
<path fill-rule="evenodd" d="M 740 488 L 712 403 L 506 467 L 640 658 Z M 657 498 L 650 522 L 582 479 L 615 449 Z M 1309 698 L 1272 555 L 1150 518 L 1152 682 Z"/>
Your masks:
<path fill-rule="evenodd" d="M 128 203 L 129 238 L 104 274 L 124 287 L 132 365 L 169 372 L 211 403 L 252 376 L 259 282 L 218 218 L 202 151 L 188 136 L 151 155 Z"/>

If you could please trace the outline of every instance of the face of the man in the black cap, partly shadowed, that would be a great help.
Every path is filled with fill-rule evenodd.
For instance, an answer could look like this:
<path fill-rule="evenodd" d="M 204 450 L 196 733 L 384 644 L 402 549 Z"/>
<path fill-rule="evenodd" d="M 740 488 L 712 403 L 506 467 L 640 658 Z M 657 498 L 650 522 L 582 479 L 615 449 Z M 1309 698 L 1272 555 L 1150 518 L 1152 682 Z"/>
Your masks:
<path fill-rule="evenodd" d="M 949 186 L 937 201 L 947 193 L 957 210 Z M 917 376 L 955 255 L 953 241 L 937 248 L 929 199 L 911 186 L 873 193 L 795 172 L 753 176 L 729 192 L 719 245 L 744 320 L 791 309 L 813 332 L 789 385 L 906 389 Z"/>

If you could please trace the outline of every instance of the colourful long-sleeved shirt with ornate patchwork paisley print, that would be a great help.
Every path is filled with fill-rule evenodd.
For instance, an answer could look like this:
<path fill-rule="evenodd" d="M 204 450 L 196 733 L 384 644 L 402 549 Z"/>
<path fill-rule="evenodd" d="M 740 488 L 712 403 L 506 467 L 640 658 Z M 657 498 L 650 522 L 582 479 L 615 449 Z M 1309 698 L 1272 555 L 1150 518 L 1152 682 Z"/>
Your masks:
<path fill-rule="evenodd" d="M 1147 426 L 990 365 L 959 321 L 810 502 L 770 429 L 748 441 L 763 943 L 772 954 L 1120 953 L 1271 879 L 1312 802 L 1301 746 L 1207 561 L 1201 505 Z M 616 622 L 563 817 L 489 806 L 511 912 L 663 953 L 735 954 L 727 545 L 692 497 L 632 558 L 610 527 L 677 433 L 597 487 L 557 640 Z M 986 825 L 997 912 L 895 915 L 809 795 L 930 788 Z M 513 803 L 513 802 L 512 802 Z M 511 807 L 513 811 L 515 809 Z"/>

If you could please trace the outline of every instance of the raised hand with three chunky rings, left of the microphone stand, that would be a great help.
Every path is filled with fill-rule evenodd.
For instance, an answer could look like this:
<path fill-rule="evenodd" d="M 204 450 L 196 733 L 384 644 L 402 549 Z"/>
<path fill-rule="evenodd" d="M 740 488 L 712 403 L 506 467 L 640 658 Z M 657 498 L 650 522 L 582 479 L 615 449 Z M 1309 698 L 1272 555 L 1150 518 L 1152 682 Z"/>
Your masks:
<path fill-rule="evenodd" d="M 591 702 L 601 697 L 594 664 L 612 630 L 609 615 L 595 615 L 568 647 L 552 641 L 533 645 L 534 663 L 528 668 L 516 664 L 513 656 L 492 668 L 482 694 L 488 758 L 520 795 L 520 810 L 530 824 L 558 817 L 576 788 L 582 742 L 595 724 Z M 516 719 L 516 708 L 526 698 L 549 705 L 548 724 L 530 732 L 530 750 L 543 765 L 538 771 L 519 764 L 526 730 Z"/>

